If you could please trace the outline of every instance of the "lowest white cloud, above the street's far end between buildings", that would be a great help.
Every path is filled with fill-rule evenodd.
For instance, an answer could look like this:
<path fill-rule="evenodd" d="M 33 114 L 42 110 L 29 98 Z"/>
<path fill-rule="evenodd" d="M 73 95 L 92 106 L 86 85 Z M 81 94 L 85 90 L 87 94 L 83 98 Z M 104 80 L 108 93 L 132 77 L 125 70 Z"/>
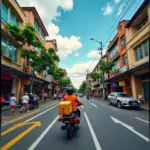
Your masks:
<path fill-rule="evenodd" d="M 74 87 L 79 88 L 82 81 L 86 78 L 86 71 L 93 71 L 94 67 L 98 63 L 97 61 L 88 61 L 88 62 L 78 62 L 74 64 L 71 68 L 66 68 L 66 71 L 74 85 Z M 89 68 L 90 66 L 90 68 Z"/>

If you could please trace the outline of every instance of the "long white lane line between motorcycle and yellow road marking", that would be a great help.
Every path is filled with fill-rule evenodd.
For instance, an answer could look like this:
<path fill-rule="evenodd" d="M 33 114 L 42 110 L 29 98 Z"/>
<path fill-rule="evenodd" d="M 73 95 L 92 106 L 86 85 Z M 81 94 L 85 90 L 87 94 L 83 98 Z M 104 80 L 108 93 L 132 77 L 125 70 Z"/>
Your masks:
<path fill-rule="evenodd" d="M 59 116 L 57 116 L 53 122 L 45 129 L 45 131 L 39 136 L 39 138 L 28 148 L 28 150 L 34 150 L 36 146 L 40 143 L 40 141 L 44 138 L 44 136 L 47 134 L 47 132 L 52 128 L 52 126 L 55 124 Z"/>

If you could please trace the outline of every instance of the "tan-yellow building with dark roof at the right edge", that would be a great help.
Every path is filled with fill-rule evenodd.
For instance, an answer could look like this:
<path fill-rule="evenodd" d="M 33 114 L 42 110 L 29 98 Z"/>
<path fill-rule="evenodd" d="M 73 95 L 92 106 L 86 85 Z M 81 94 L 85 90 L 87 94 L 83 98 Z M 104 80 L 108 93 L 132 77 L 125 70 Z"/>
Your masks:
<path fill-rule="evenodd" d="M 128 64 L 134 98 L 141 92 L 149 102 L 150 5 L 145 0 L 126 26 Z"/>

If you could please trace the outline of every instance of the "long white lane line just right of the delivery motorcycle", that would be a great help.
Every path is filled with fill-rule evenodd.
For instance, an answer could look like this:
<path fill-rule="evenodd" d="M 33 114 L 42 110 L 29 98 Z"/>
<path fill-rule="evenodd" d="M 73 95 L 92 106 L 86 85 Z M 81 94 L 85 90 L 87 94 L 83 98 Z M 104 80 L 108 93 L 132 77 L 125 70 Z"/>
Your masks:
<path fill-rule="evenodd" d="M 98 139 L 97 139 L 97 137 L 96 137 L 96 135 L 95 135 L 95 132 L 94 132 L 94 130 L 93 130 L 93 128 L 92 128 L 92 125 L 91 125 L 91 123 L 90 123 L 90 121 L 89 121 L 89 118 L 88 118 L 88 116 L 87 116 L 87 114 L 86 114 L 85 112 L 84 112 L 84 116 L 85 116 L 85 119 L 86 119 L 87 124 L 88 124 L 88 126 L 89 126 L 89 129 L 90 129 L 90 132 L 91 132 L 91 135 L 92 135 L 92 138 L 93 138 L 93 141 L 94 141 L 96 150 L 102 150 L 102 148 L 101 148 L 101 146 L 100 146 L 100 144 L 99 144 L 99 142 L 98 142 Z"/>

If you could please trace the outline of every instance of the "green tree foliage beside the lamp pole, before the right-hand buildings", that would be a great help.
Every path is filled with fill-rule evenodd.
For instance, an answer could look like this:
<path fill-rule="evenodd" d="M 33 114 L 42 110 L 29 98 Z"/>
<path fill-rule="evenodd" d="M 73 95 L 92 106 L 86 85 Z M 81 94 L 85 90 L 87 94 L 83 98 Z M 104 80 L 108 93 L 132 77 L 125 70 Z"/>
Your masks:
<path fill-rule="evenodd" d="M 103 72 L 106 72 L 106 73 L 108 73 L 111 69 L 112 69 L 112 67 L 114 66 L 114 62 L 105 62 L 105 61 L 102 61 L 101 63 L 100 63 L 100 67 L 99 67 L 99 69 L 101 70 L 101 71 L 103 71 Z"/>

